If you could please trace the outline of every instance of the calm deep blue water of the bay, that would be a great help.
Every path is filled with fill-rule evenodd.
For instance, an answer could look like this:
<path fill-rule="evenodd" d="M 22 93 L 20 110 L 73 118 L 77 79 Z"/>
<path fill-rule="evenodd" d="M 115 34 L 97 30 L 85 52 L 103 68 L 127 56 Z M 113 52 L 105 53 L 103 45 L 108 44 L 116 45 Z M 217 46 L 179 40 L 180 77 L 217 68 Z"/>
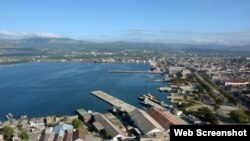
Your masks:
<path fill-rule="evenodd" d="M 159 75 L 115 74 L 109 70 L 148 70 L 145 64 L 25 63 L 0 66 L 0 120 L 8 113 L 19 118 L 71 115 L 77 108 L 106 112 L 110 105 L 90 94 L 105 91 L 134 106 L 138 96 L 152 93 L 167 102 L 152 82 Z"/>

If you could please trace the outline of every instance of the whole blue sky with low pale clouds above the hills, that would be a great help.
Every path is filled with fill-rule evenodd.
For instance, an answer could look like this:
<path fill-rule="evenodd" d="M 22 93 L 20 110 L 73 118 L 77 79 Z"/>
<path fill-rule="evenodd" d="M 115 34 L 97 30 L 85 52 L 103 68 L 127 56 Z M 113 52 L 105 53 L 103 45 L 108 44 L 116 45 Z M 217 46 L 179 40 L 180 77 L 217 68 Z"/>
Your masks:
<path fill-rule="evenodd" d="M 0 37 L 250 43 L 250 0 L 0 0 Z"/>

